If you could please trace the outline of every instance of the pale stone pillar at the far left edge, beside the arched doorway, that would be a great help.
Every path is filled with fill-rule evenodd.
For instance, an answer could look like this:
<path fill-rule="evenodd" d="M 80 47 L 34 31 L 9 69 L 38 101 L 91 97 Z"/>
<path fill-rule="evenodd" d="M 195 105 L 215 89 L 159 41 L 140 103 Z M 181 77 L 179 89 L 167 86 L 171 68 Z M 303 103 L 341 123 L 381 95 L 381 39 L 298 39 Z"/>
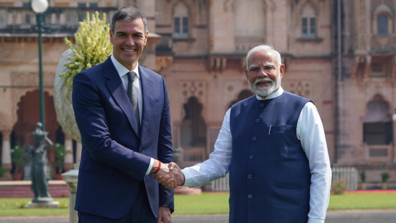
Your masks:
<path fill-rule="evenodd" d="M 1 166 L 4 172 L 4 176 L 1 178 L 1 180 L 3 181 L 12 181 L 11 144 L 9 139 L 10 134 L 11 134 L 11 130 L 1 130 L 1 135 L 2 135 Z"/>

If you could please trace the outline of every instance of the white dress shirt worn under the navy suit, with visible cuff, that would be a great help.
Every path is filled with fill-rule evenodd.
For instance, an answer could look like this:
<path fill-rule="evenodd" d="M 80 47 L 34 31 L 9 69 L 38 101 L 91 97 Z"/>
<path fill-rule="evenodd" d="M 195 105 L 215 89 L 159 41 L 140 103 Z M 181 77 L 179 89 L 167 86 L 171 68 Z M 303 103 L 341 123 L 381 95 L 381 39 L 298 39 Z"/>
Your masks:
<path fill-rule="evenodd" d="M 133 89 L 136 92 L 137 96 L 137 105 L 139 106 L 139 119 L 141 124 L 141 114 L 143 113 L 143 96 L 141 94 L 141 81 L 140 81 L 140 74 L 139 74 L 139 63 L 137 63 L 136 67 L 133 70 L 127 69 L 123 64 L 118 62 L 116 58 L 114 58 L 114 55 L 111 55 L 112 62 L 114 66 L 116 67 L 116 70 L 118 74 L 121 77 L 121 80 L 123 81 L 125 91 L 128 91 L 128 76 L 127 73 L 130 71 L 133 71 L 136 73 L 135 78 L 133 79 Z M 150 165 L 148 166 L 148 169 L 146 171 L 146 175 L 150 173 L 152 165 L 154 163 L 154 159 L 151 158 Z"/>

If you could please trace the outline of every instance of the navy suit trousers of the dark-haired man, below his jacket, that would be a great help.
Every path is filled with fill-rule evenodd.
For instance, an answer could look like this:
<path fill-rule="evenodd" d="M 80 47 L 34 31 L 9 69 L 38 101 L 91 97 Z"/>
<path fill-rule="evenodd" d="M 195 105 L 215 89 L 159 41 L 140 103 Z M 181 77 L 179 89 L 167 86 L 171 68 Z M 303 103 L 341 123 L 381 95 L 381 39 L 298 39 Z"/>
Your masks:
<path fill-rule="evenodd" d="M 146 188 L 139 182 L 136 198 L 128 213 L 119 219 L 109 219 L 101 216 L 78 212 L 78 223 L 156 223 L 157 219 L 152 214 L 148 201 Z"/>

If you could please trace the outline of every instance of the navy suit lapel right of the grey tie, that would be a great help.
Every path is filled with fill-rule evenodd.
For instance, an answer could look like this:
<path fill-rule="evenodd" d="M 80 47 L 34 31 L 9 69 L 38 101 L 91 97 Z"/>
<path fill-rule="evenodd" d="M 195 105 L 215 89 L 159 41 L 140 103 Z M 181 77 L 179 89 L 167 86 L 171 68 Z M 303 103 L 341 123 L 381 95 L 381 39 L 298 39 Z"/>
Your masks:
<path fill-rule="evenodd" d="M 142 145 L 142 141 L 147 132 L 148 124 L 150 123 L 154 98 L 154 84 L 149 79 L 149 74 L 145 72 L 139 66 L 139 75 L 141 80 L 141 92 L 143 98 L 143 109 L 141 113 L 141 128 L 140 128 L 140 145 Z"/>

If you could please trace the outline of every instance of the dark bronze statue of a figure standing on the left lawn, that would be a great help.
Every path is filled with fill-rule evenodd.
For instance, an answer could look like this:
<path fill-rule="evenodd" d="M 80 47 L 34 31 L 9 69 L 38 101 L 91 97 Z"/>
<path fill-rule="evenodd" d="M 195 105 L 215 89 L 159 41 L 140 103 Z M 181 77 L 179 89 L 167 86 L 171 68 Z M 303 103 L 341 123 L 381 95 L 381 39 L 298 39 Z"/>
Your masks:
<path fill-rule="evenodd" d="M 34 194 L 32 202 L 52 202 L 51 195 L 48 192 L 48 180 L 50 177 L 47 159 L 47 148 L 52 146 L 52 141 L 47 137 L 48 132 L 41 130 L 42 124 L 37 122 L 36 130 L 29 136 L 34 137 L 33 146 L 28 146 L 27 155 L 30 158 L 31 169 L 31 190 Z M 48 142 L 48 144 L 46 143 Z"/>

